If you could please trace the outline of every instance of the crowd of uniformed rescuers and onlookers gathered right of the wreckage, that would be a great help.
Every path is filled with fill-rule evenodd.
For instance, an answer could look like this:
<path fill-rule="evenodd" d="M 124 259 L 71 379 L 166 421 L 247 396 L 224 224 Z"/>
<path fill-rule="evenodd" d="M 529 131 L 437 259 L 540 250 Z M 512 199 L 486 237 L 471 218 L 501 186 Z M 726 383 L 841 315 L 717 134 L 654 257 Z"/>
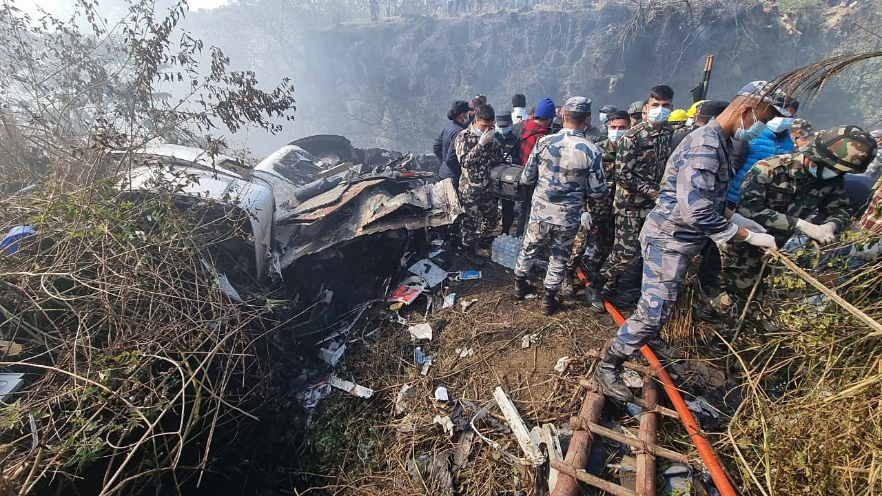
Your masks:
<path fill-rule="evenodd" d="M 633 309 L 595 372 L 603 392 L 624 401 L 632 394 L 619 374 L 640 347 L 678 356 L 659 331 L 697 255 L 693 315 L 726 333 L 749 293 L 762 295 L 767 250 L 795 236 L 828 244 L 863 209 L 863 229 L 882 231 L 882 188 L 866 207 L 882 168 L 882 130 L 816 131 L 798 117 L 799 102 L 766 81 L 731 101 L 689 109 L 674 101 L 659 85 L 626 110 L 605 104 L 594 114 L 585 97 L 562 106 L 542 98 L 527 110 L 515 94 L 497 113 L 478 95 L 452 102 L 434 147 L 438 177 L 458 186 L 465 209 L 452 240 L 463 257 L 482 265 L 500 227 L 514 229 L 522 237 L 515 297 L 537 291 L 529 275 L 547 247 L 543 314 L 579 294 L 577 269 L 595 311 L 605 311 L 604 300 Z M 852 259 L 879 252 L 880 244 L 863 246 Z M 770 325 L 750 310 L 758 328 Z"/>

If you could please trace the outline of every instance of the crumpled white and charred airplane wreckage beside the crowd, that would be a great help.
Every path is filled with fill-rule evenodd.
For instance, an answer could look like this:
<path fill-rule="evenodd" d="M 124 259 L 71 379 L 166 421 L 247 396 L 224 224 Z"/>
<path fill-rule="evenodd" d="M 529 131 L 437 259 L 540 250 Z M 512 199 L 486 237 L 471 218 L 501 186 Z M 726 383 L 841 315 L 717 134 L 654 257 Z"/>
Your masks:
<path fill-rule="evenodd" d="M 429 181 L 434 157 L 358 149 L 340 136 L 292 141 L 253 169 L 176 145 L 112 154 L 134 159 L 123 191 L 171 188 L 184 201 L 209 200 L 247 216 L 258 279 L 357 237 L 444 226 L 463 212 L 449 179 Z"/>

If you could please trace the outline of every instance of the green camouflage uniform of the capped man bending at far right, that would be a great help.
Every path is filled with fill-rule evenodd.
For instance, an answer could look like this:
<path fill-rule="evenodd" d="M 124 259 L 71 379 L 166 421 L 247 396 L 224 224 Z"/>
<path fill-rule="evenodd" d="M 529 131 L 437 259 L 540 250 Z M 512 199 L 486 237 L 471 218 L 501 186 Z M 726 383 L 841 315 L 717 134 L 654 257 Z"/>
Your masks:
<path fill-rule="evenodd" d="M 744 177 L 737 213 L 759 222 L 775 237 L 779 246 L 796 230 L 796 220 L 817 216 L 815 223 L 833 222 L 836 230 L 848 226 L 851 207 L 843 178 L 818 179 L 806 173 L 804 154 L 770 157 L 753 165 Z M 819 221 L 819 222 L 818 222 Z M 721 246 L 724 291 L 711 306 L 723 317 L 726 327 L 734 327 L 757 277 L 761 277 L 763 253 L 746 243 Z M 762 294 L 758 288 L 756 298 Z"/>

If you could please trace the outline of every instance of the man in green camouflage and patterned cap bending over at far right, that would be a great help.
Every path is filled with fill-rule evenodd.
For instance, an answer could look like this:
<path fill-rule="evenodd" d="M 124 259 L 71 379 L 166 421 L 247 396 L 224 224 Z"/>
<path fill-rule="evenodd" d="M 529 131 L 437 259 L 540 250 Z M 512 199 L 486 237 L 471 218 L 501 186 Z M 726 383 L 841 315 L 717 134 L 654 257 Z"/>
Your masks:
<path fill-rule="evenodd" d="M 818 243 L 830 243 L 851 225 L 843 176 L 866 170 L 876 150 L 875 140 L 857 126 L 822 132 L 802 152 L 755 163 L 744 178 L 736 211 L 759 222 L 779 245 L 796 231 Z M 763 252 L 731 243 L 723 244 L 721 253 L 724 291 L 714 297 L 711 308 L 722 317 L 723 328 L 733 330 L 757 278 L 762 278 Z M 756 301 L 761 299 L 762 286 L 759 282 Z"/>

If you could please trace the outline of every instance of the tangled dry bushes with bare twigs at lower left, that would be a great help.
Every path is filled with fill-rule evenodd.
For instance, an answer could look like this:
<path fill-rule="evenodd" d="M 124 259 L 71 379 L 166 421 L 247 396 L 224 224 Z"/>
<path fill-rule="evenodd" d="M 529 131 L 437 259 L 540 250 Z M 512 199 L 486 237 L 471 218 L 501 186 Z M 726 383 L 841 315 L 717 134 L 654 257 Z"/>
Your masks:
<path fill-rule="evenodd" d="M 268 308 L 203 267 L 237 259 L 209 246 L 245 243 L 215 208 L 108 181 L 0 201 L 0 225 L 37 231 L 0 256 L 0 334 L 24 345 L 0 366 L 26 373 L 0 408 L 5 488 L 175 493 L 256 420 Z"/>

